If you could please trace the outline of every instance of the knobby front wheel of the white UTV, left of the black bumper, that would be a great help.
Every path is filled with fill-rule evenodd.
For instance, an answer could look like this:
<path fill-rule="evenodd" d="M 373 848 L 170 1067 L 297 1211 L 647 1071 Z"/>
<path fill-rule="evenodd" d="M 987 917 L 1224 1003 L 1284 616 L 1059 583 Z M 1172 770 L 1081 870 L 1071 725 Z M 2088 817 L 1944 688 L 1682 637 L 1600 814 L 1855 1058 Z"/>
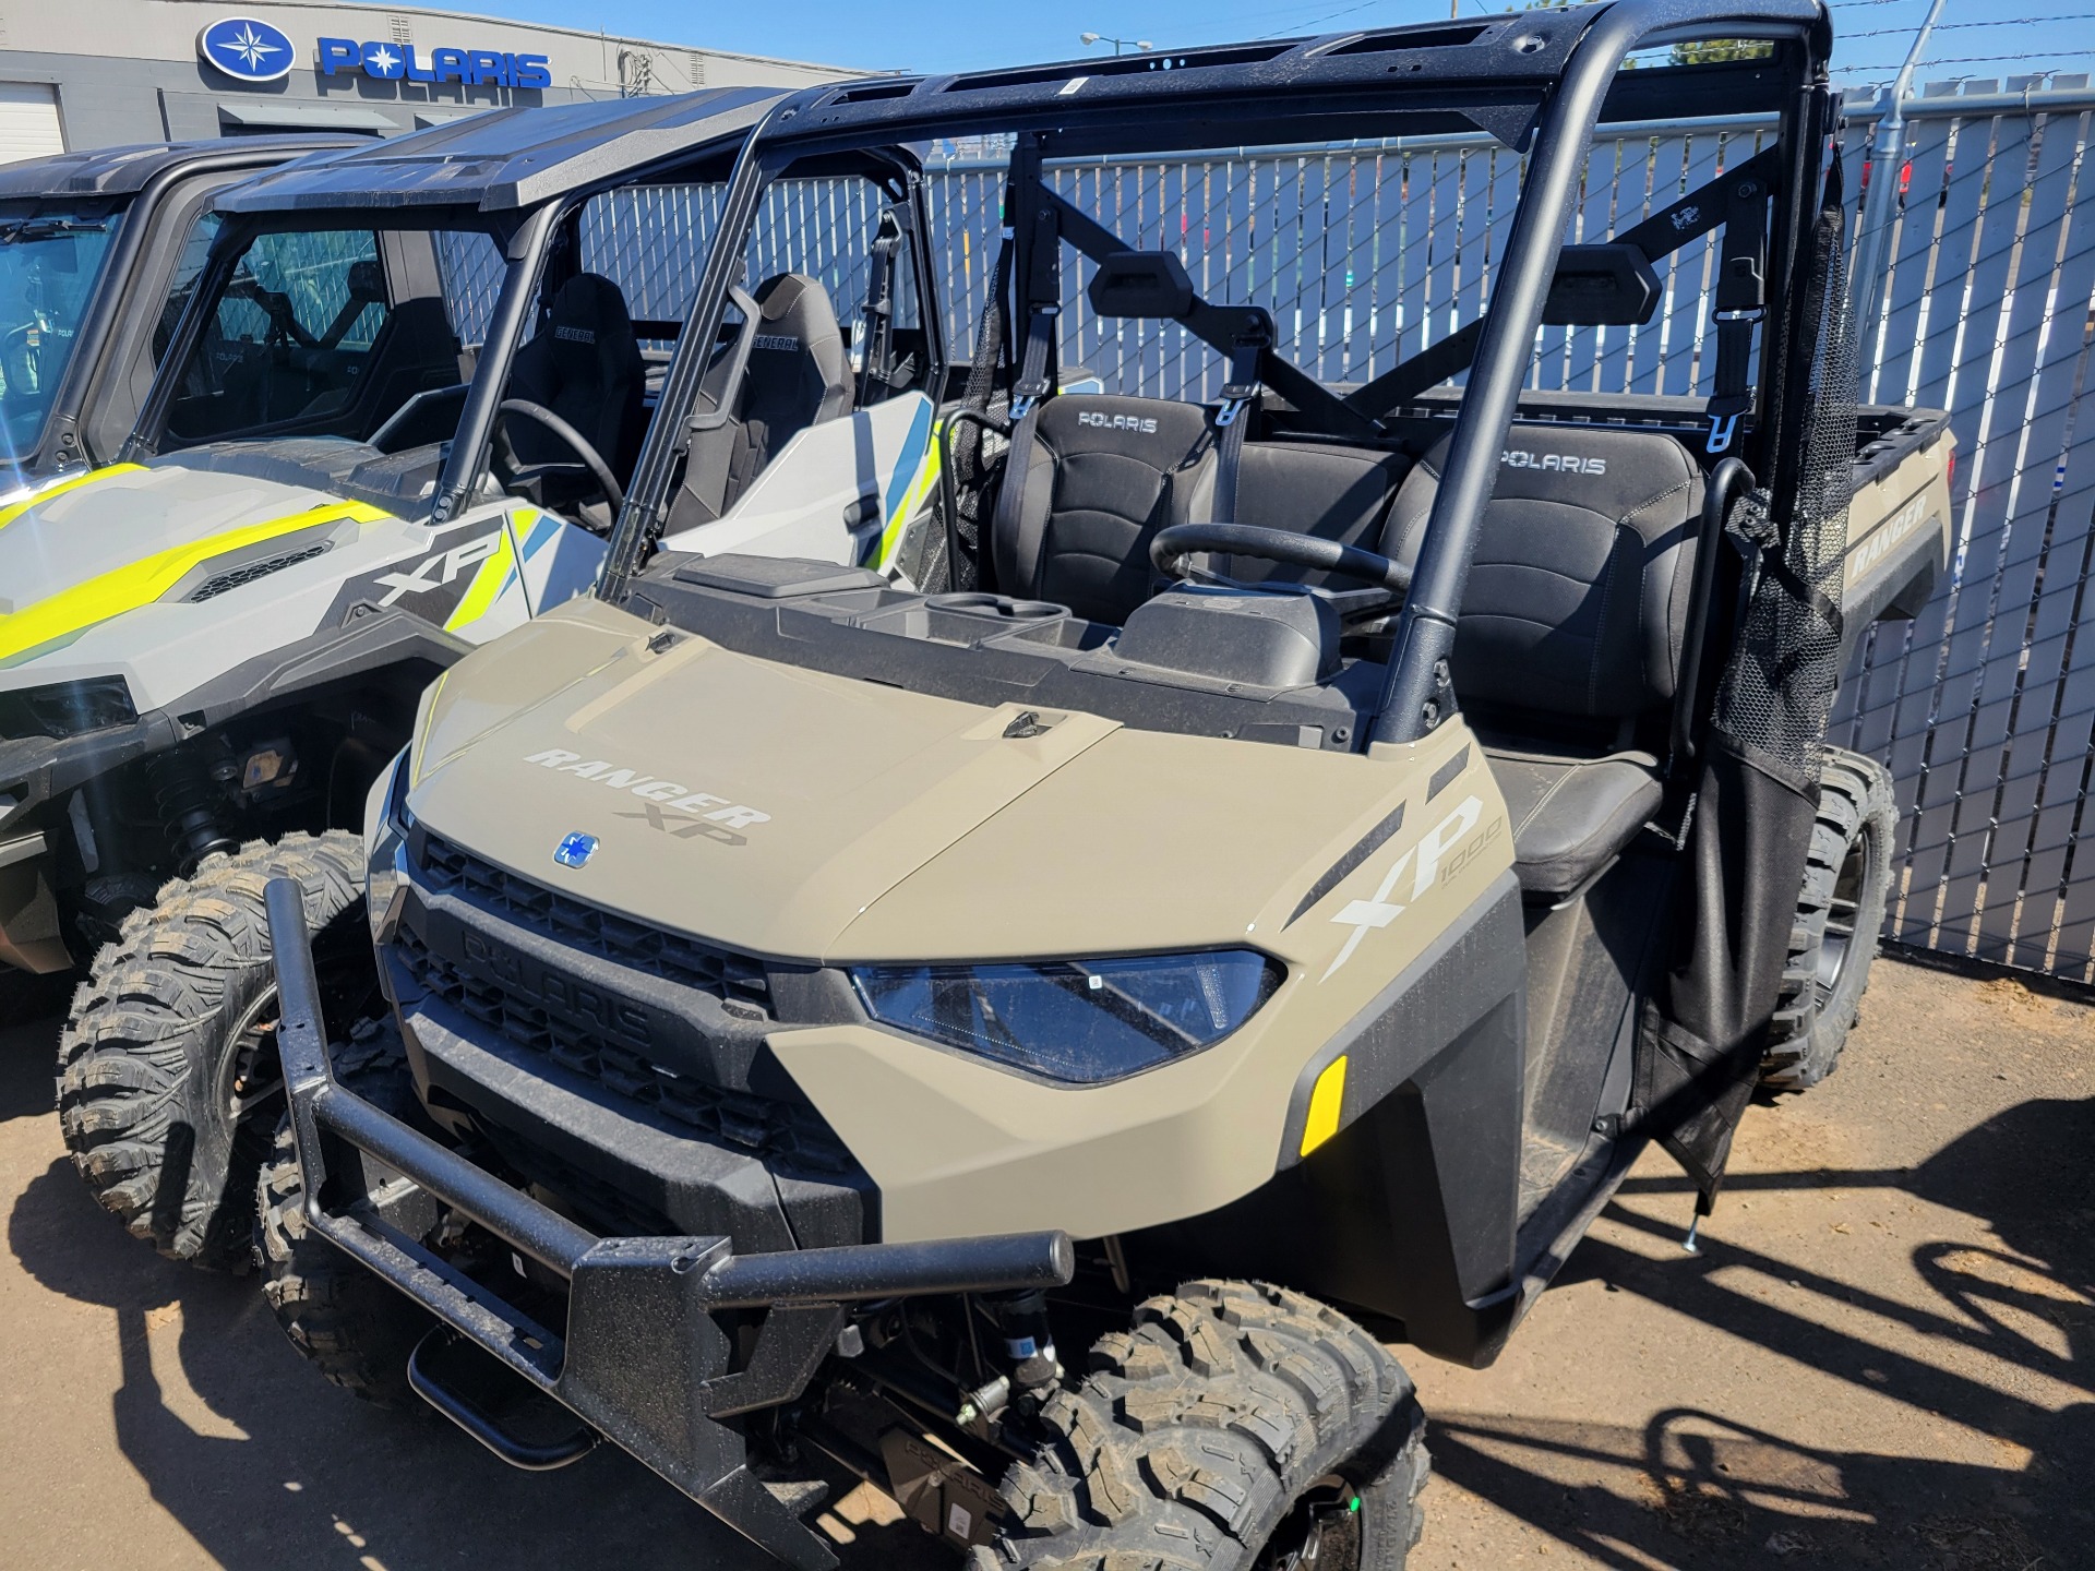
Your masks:
<path fill-rule="evenodd" d="M 212 857 L 124 920 L 59 1037 L 59 1125 L 103 1207 L 170 1259 L 245 1269 L 256 1173 L 283 1102 L 262 890 L 306 890 L 327 1018 L 371 1012 L 356 836 L 293 834 Z"/>

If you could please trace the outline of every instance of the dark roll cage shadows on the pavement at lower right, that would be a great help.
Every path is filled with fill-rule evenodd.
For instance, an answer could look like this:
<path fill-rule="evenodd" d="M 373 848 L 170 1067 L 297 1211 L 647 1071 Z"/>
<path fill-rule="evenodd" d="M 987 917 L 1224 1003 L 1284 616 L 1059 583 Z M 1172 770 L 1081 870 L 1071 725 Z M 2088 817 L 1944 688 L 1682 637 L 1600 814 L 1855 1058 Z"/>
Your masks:
<path fill-rule="evenodd" d="M 1726 1186 L 1733 1198 L 1785 1190 L 1896 1190 L 1965 1213 L 1997 1244 L 1913 1246 L 1934 1295 L 1917 1305 L 1707 1234 L 1684 1259 L 1678 1230 L 1630 1202 L 1676 1196 L 1668 1215 L 1686 1215 L 1691 1183 L 1638 1175 L 1609 1221 L 1663 1253 L 1588 1238 L 1559 1288 L 1642 1295 L 1804 1370 L 1982 1431 L 1999 1441 L 1999 1466 L 1829 1450 L 1808 1424 L 1774 1435 L 1672 1408 L 1642 1426 L 1446 1416 L 1433 1426 L 1435 1470 L 1601 1565 L 2095 1565 L 2095 1102 L 2022 1102 L 1913 1169 L 1743 1173 Z M 1770 1303 L 1751 1282 L 1789 1292 Z M 2045 1401 L 2028 1380 L 1978 1378 L 1976 1359 L 1936 1349 L 2078 1395 Z"/>

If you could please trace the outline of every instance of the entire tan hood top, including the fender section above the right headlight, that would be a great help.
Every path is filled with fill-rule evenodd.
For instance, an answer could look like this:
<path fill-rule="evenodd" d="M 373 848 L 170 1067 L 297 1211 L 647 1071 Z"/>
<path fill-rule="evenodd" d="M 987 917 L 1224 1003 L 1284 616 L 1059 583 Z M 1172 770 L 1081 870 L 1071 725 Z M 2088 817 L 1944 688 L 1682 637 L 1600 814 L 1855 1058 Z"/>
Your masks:
<path fill-rule="evenodd" d="M 434 689 L 413 811 L 526 878 L 788 959 L 1249 943 L 1328 961 L 1303 892 L 1423 781 L 1374 760 L 980 708 L 750 660 L 578 601 Z M 545 693 L 547 672 L 574 672 Z M 1441 752 L 1454 748 L 1454 742 Z M 1423 806 L 1423 804 L 1420 804 Z M 1420 825 L 1423 827 L 1423 825 Z M 580 867 L 555 861 L 595 836 Z"/>

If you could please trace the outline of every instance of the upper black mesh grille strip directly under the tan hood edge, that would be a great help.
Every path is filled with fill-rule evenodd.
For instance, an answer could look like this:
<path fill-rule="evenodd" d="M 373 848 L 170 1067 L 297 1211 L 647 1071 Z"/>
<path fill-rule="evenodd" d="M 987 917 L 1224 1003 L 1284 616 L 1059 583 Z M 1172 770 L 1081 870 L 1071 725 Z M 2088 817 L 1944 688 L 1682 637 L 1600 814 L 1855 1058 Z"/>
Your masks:
<path fill-rule="evenodd" d="M 603 911 L 543 884 L 482 861 L 434 834 L 423 836 L 423 882 L 436 892 L 463 892 L 522 926 L 564 945 L 587 949 L 620 966 L 660 976 L 679 987 L 696 987 L 721 999 L 742 1020 L 771 1018 L 771 989 L 763 961 L 698 938 L 662 932 L 645 922 Z"/>

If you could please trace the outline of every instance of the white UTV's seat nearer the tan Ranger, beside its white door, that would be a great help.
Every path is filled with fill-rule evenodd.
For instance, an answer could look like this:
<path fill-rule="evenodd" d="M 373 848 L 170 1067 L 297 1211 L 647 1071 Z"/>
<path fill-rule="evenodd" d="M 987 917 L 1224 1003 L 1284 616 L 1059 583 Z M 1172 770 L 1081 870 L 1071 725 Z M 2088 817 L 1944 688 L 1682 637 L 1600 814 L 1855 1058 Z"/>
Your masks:
<path fill-rule="evenodd" d="M 779 272 L 765 279 L 754 300 L 758 320 L 748 371 L 731 394 L 725 421 L 693 421 L 672 528 L 721 517 L 786 442 L 851 413 L 851 356 L 830 291 L 804 272 Z M 700 385 L 700 408 L 714 417 L 719 381 L 733 358 L 733 346 L 723 346 L 706 371 L 712 385 Z"/>

